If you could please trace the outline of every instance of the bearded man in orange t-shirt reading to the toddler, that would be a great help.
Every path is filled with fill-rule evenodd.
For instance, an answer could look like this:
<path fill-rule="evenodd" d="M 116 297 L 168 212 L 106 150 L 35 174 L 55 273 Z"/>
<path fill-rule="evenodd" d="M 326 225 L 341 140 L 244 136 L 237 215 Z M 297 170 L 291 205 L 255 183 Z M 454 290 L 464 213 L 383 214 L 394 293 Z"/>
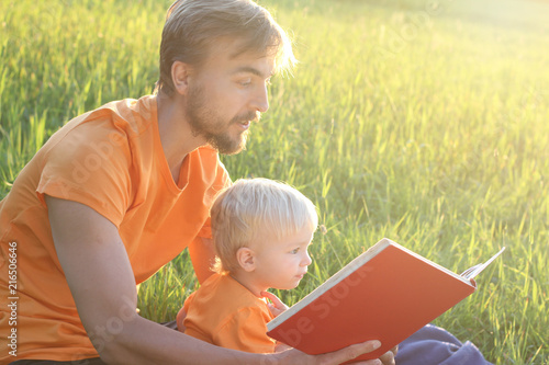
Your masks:
<path fill-rule="evenodd" d="M 170 8 L 157 94 L 69 122 L 0 203 L 2 293 L 13 285 L 13 256 L 18 265 L 16 326 L 8 296 L 0 308 L 1 337 L 15 330 L 18 357 L 4 347 L 2 363 L 338 364 L 378 346 L 247 354 L 136 315 L 136 284 L 184 248 L 199 281 L 210 274 L 208 212 L 231 183 L 217 151 L 244 148 L 250 123 L 269 106 L 271 75 L 293 61 L 283 31 L 251 1 Z M 393 354 L 383 362 L 394 363 Z"/>

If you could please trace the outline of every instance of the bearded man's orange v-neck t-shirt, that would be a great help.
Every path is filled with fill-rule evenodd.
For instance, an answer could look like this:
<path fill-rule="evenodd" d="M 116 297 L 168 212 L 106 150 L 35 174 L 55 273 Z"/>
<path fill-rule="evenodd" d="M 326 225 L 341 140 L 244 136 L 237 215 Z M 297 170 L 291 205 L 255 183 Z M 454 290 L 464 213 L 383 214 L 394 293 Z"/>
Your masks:
<path fill-rule="evenodd" d="M 176 185 L 160 144 L 154 95 L 112 102 L 70 121 L 0 202 L 0 337 L 15 331 L 18 355 L 2 345 L 0 363 L 98 356 L 57 260 L 44 194 L 85 204 L 112 221 L 135 281 L 142 283 L 192 240 L 211 237 L 209 208 L 228 184 L 217 151 L 202 147 L 187 156 Z M 10 283 L 13 253 L 16 277 Z M 10 284 L 16 293 L 7 295 L 15 288 Z M 15 316 L 8 307 L 12 301 Z"/>

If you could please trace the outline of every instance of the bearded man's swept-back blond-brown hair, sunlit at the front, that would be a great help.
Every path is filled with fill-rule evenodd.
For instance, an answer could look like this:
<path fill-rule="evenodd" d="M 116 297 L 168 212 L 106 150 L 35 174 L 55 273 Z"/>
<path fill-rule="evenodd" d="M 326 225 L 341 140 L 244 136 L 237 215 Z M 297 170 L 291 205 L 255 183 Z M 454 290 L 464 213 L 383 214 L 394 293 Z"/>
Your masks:
<path fill-rule="evenodd" d="M 240 49 L 274 57 L 274 71 L 290 71 L 296 62 L 291 42 L 271 14 L 250 0 L 177 0 L 168 10 L 160 44 L 160 77 L 155 92 L 175 91 L 171 66 L 199 66 L 221 39 L 237 39 Z"/>

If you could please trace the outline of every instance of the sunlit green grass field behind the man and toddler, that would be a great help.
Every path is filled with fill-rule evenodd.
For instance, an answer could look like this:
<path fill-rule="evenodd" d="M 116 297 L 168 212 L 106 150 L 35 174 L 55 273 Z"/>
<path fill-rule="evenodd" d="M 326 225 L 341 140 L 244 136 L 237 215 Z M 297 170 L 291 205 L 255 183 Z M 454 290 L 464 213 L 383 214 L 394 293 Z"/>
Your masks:
<path fill-rule="evenodd" d="M 493 363 L 548 364 L 549 2 L 261 3 L 300 65 L 273 80 L 248 149 L 223 160 L 320 208 L 310 274 L 282 298 L 382 237 L 456 272 L 505 246 L 436 324 Z M 152 91 L 168 5 L 0 0 L 0 197 L 65 122 Z M 182 253 L 142 285 L 142 315 L 172 319 L 195 286 Z"/>

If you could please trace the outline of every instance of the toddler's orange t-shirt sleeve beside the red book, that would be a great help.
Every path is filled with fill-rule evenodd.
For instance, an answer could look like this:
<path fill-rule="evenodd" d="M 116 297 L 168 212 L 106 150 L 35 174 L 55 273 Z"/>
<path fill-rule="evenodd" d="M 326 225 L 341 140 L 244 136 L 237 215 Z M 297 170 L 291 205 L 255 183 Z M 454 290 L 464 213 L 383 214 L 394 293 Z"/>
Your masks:
<path fill-rule="evenodd" d="M 243 308 L 213 334 L 214 344 L 257 354 L 273 353 L 276 343 L 267 335 L 269 320 L 259 308 Z"/>

